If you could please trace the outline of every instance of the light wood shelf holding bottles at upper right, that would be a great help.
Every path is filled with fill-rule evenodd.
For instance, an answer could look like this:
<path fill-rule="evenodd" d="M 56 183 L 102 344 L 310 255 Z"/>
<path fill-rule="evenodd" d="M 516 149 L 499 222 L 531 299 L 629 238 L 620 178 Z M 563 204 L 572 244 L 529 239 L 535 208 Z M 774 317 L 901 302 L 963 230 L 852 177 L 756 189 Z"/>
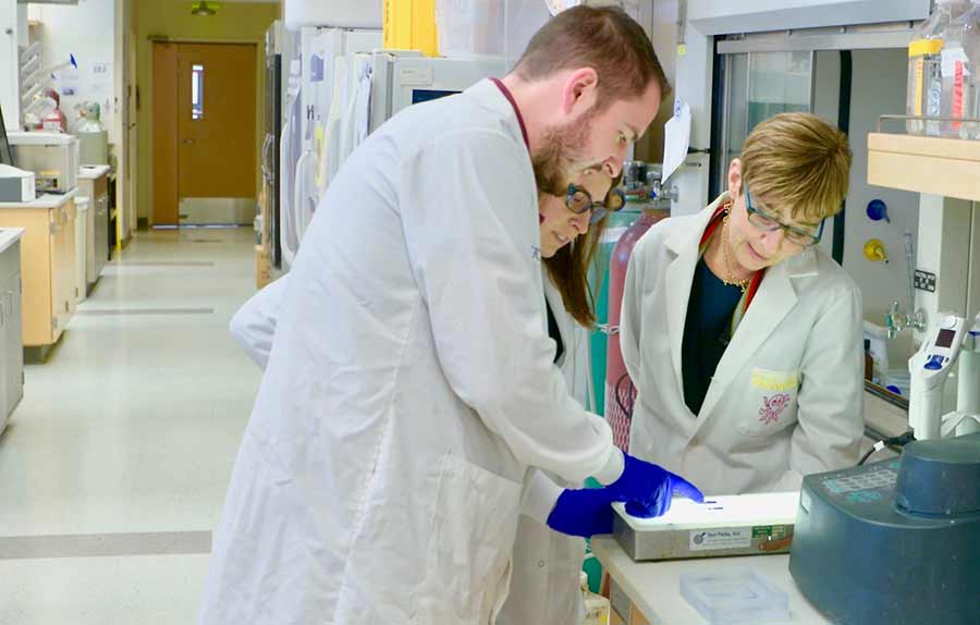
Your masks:
<path fill-rule="evenodd" d="M 870 133 L 868 184 L 980 201 L 980 140 Z"/>

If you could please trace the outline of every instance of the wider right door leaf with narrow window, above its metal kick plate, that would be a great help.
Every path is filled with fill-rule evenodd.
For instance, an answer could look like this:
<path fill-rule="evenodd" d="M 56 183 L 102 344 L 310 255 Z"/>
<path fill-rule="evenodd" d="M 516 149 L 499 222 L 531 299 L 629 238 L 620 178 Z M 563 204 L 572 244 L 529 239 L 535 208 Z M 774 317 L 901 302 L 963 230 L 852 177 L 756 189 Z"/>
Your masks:
<path fill-rule="evenodd" d="M 255 46 L 181 44 L 180 197 L 254 198 Z"/>

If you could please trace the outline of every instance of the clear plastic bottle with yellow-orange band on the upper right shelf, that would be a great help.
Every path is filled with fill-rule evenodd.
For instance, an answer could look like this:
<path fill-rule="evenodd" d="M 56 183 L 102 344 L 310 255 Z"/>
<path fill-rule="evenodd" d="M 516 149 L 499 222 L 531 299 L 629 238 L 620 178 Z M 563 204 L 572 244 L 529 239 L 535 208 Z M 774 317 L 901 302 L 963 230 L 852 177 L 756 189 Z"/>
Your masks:
<path fill-rule="evenodd" d="M 942 114 L 942 50 L 943 32 L 970 7 L 968 0 L 938 0 L 935 11 L 912 33 L 908 45 L 908 91 L 906 112 L 909 115 L 939 117 Z M 939 135 L 939 122 L 910 120 L 906 128 L 911 134 Z"/>

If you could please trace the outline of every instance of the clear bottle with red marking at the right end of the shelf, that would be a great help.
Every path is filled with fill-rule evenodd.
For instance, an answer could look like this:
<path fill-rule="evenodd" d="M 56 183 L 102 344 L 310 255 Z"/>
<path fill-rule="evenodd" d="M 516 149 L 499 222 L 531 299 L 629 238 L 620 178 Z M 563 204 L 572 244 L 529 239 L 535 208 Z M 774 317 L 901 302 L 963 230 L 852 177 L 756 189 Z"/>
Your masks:
<path fill-rule="evenodd" d="M 946 118 L 971 118 L 976 114 L 977 76 L 973 69 L 980 62 L 980 0 L 969 11 L 953 20 L 943 29 L 941 52 L 942 114 Z M 975 124 L 942 122 L 943 136 L 971 138 Z"/>

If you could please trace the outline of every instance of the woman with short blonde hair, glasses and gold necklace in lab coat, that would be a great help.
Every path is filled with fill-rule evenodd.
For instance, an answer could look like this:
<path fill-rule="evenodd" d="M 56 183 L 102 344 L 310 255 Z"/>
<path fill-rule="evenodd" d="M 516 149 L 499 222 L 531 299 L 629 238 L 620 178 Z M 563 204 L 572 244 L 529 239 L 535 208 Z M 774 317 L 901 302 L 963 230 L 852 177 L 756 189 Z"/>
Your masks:
<path fill-rule="evenodd" d="M 817 246 L 850 158 L 818 118 L 776 115 L 732 161 L 726 193 L 637 244 L 620 328 L 638 391 L 632 454 L 706 494 L 795 490 L 857 462 L 861 297 Z"/>

